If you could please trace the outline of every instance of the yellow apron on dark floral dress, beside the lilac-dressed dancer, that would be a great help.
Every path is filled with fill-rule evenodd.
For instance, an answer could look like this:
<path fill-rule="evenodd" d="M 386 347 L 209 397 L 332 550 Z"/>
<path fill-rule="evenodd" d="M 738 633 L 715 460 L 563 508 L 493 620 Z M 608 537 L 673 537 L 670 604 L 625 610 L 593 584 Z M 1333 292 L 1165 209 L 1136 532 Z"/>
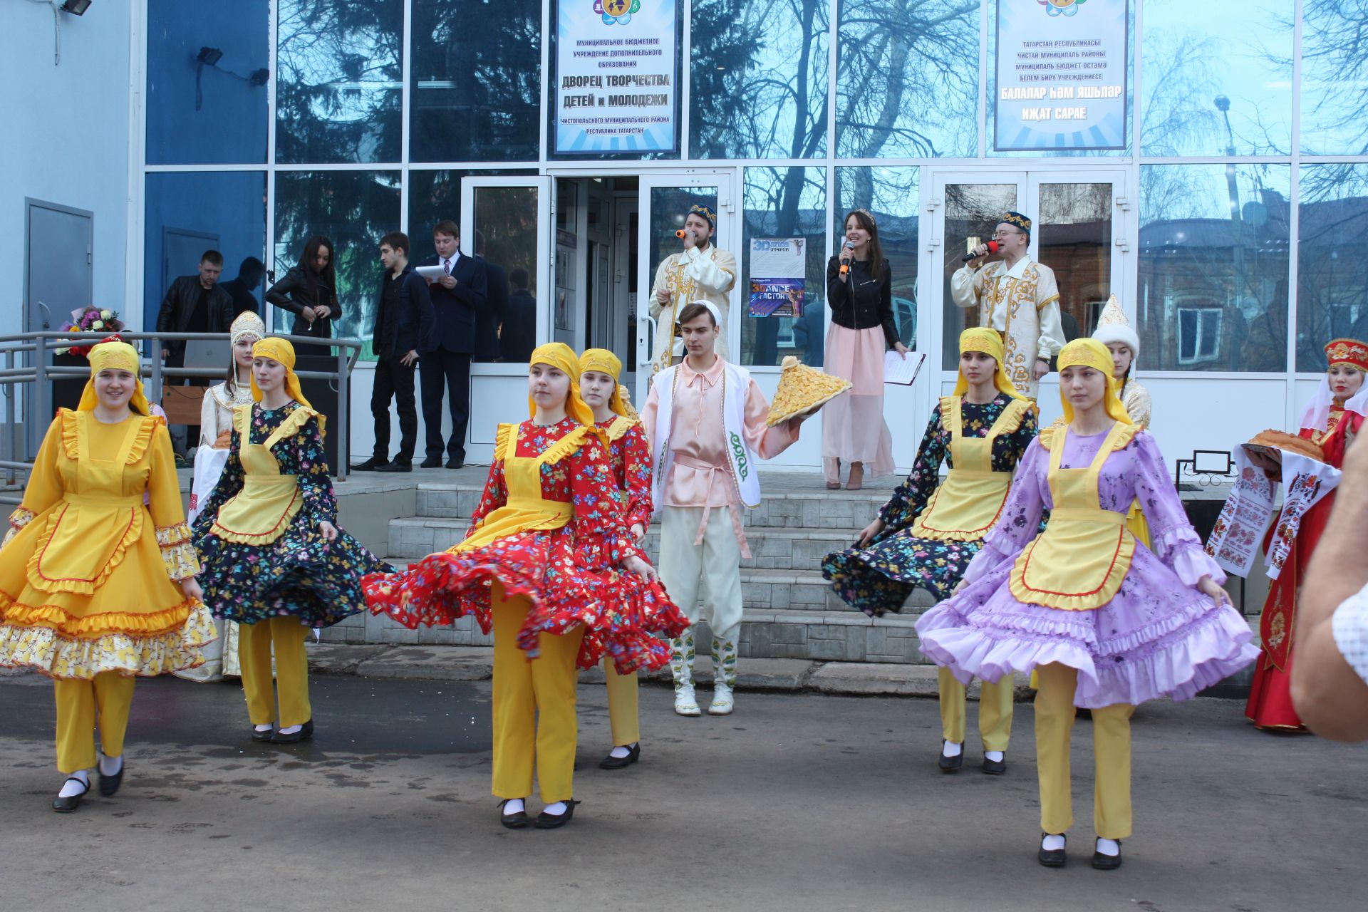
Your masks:
<path fill-rule="evenodd" d="M 963 397 L 941 399 L 943 412 L 949 407 L 951 470 L 912 524 L 918 539 L 977 541 L 997 524 L 1007 503 L 1012 473 L 993 472 L 993 440 L 1005 428 L 1016 428 L 1030 403 L 1012 399 L 985 438 L 963 436 Z"/>

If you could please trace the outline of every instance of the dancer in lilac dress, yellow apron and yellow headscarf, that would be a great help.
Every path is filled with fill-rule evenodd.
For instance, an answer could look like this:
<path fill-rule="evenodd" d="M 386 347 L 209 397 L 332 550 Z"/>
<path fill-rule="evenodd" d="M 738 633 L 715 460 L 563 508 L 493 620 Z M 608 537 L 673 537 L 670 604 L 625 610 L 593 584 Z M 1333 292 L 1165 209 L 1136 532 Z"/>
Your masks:
<path fill-rule="evenodd" d="M 1092 864 L 1120 867 L 1131 833 L 1130 716 L 1194 696 L 1249 665 L 1249 625 L 1220 584 L 1163 454 L 1116 397 L 1111 353 L 1075 339 L 1059 354 L 1064 418 L 1016 468 L 1003 518 L 956 593 L 917 622 L 922 652 L 960 681 L 1038 671 L 1036 763 L 1047 867 L 1066 863 L 1068 742 L 1092 710 L 1097 767 Z M 1140 500 L 1153 551 L 1126 528 Z M 1049 524 L 1038 532 L 1041 515 Z"/>

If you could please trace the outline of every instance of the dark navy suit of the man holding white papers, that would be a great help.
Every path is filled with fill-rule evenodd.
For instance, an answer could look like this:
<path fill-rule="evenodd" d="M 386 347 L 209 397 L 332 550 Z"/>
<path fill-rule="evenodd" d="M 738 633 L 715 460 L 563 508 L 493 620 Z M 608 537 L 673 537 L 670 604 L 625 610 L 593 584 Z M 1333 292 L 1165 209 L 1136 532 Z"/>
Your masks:
<path fill-rule="evenodd" d="M 442 265 L 428 257 L 421 265 Z M 423 384 L 423 424 L 427 429 L 427 458 L 465 461 L 465 425 L 471 420 L 471 356 L 476 351 L 476 324 L 488 305 L 488 280 L 484 264 L 461 256 L 451 264 L 454 289 L 430 284 L 435 323 L 428 347 L 419 354 L 419 380 Z M 442 397 L 449 395 L 451 439 L 442 442 Z"/>

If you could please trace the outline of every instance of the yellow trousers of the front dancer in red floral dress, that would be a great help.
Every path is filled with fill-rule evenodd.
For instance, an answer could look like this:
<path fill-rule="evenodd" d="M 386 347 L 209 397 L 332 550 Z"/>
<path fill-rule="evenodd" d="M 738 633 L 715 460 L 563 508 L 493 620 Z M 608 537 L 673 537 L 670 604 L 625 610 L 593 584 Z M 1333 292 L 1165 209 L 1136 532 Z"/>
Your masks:
<path fill-rule="evenodd" d="M 532 773 L 547 804 L 575 797 L 575 658 L 584 628 L 564 636 L 542 633 L 538 658 L 517 647 L 531 604 L 494 584 L 494 788 L 495 797 L 525 799 Z"/>

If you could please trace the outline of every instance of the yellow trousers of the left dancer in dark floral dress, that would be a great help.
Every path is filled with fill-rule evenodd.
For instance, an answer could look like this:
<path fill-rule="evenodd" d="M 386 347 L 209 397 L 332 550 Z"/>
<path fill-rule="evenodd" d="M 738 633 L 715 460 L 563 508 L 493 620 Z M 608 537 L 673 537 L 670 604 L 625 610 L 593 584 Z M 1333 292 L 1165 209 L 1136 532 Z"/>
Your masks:
<path fill-rule="evenodd" d="M 238 629 L 238 663 L 242 692 L 248 697 L 252 725 L 276 721 L 276 690 L 271 686 L 271 649 L 275 648 L 275 684 L 280 699 L 280 727 L 304 725 L 313 718 L 309 706 L 309 658 L 304 643 L 309 628 L 298 618 L 276 617 Z"/>

